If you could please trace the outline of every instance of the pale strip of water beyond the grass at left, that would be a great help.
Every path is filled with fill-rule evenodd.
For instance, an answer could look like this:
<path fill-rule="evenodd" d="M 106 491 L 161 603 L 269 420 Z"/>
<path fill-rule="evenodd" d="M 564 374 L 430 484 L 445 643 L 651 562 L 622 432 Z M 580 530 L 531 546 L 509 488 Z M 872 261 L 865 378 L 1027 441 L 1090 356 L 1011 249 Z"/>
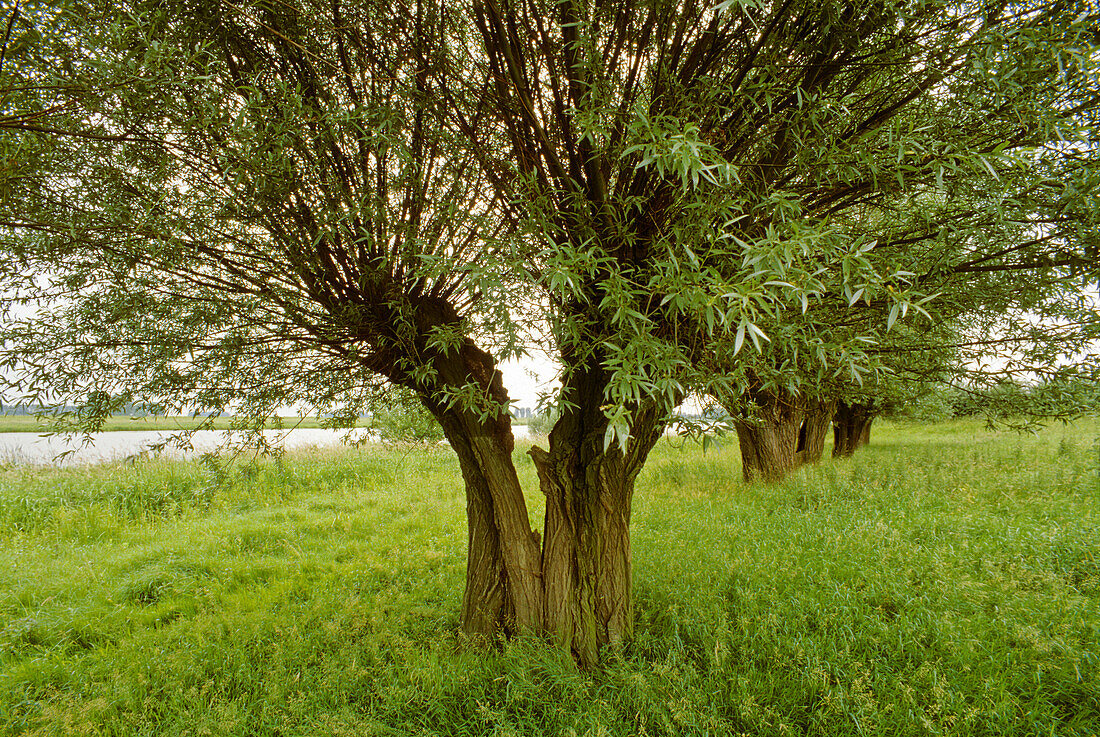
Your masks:
<path fill-rule="evenodd" d="M 527 437 L 527 426 L 513 427 L 516 438 Z M 91 442 L 84 438 L 62 436 L 43 437 L 37 432 L 0 432 L 0 463 L 20 465 L 84 465 L 103 463 L 139 455 L 153 446 L 173 436 L 170 430 L 119 430 L 97 432 Z M 199 430 L 194 432 L 189 447 L 177 448 L 170 443 L 160 453 L 168 458 L 194 458 L 224 447 L 229 439 L 224 430 Z M 300 448 L 324 448 L 340 444 L 348 438 L 346 430 L 321 428 L 294 428 L 290 430 L 264 430 L 264 439 L 285 450 Z M 364 430 L 358 430 L 353 439 L 370 440 Z M 65 453 L 64 455 L 62 455 Z"/>

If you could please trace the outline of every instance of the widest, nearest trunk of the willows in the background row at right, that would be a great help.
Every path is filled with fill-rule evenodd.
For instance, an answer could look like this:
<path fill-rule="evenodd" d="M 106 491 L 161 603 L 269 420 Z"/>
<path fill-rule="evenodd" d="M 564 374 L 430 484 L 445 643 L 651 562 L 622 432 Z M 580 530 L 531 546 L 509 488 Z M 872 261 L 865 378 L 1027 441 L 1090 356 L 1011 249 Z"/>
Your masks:
<path fill-rule="evenodd" d="M 798 397 L 771 392 L 754 394 L 752 404 L 751 418 L 734 424 L 741 449 L 741 475 L 749 483 L 782 481 L 800 463 L 799 431 L 805 411 Z M 730 415 L 737 416 L 734 411 Z"/>

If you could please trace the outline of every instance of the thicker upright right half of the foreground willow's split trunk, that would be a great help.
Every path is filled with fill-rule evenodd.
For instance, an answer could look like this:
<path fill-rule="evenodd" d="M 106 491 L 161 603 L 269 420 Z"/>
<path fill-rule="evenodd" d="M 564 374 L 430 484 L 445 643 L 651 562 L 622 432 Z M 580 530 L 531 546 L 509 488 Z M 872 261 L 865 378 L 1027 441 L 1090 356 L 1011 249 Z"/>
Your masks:
<path fill-rule="evenodd" d="M 596 389 L 597 381 L 578 382 Z M 663 426 L 651 410 L 637 413 L 630 442 L 604 449 L 607 421 L 598 403 L 578 403 L 550 432 L 550 450 L 532 448 L 547 497 L 542 580 L 546 628 L 582 668 L 600 650 L 618 647 L 634 631 L 630 504 L 634 485 Z"/>

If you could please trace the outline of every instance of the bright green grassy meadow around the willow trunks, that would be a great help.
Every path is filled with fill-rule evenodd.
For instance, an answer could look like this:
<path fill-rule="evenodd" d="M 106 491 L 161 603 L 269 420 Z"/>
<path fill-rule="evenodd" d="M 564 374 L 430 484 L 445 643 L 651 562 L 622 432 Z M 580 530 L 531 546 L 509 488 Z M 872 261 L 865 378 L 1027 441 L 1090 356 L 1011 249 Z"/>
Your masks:
<path fill-rule="evenodd" d="M 1097 735 L 1098 441 L 883 425 L 772 487 L 664 442 L 593 673 L 455 634 L 446 449 L 8 469 L 0 734 Z"/>

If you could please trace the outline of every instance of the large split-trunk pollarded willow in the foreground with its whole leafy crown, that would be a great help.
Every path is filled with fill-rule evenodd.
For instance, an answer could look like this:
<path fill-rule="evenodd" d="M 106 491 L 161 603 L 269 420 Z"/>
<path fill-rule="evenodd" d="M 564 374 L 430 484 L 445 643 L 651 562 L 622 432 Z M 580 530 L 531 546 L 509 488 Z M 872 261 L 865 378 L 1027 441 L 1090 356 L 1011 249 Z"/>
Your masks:
<path fill-rule="evenodd" d="M 631 632 L 634 482 L 686 395 L 752 420 L 763 468 L 752 432 L 790 407 L 998 348 L 979 374 L 1087 371 L 1096 20 L 23 0 L 0 56 L 8 392 L 80 403 L 78 429 L 128 403 L 350 421 L 411 393 L 465 481 L 463 629 L 592 666 Z M 532 341 L 561 364 L 540 531 L 497 371 Z"/>

